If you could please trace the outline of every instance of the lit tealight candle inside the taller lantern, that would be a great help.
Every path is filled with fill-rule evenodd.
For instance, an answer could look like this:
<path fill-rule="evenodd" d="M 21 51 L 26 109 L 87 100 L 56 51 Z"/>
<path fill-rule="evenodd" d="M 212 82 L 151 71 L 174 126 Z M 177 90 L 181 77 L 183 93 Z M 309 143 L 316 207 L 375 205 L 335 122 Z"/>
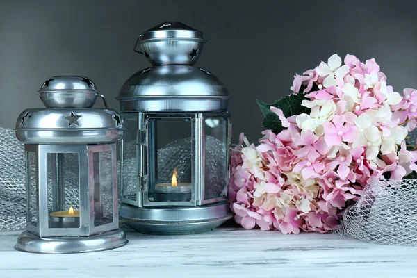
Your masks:
<path fill-rule="evenodd" d="M 157 202 L 188 201 L 191 198 L 191 183 L 177 183 L 177 169 L 172 174 L 171 183 L 158 183 L 154 199 Z"/>

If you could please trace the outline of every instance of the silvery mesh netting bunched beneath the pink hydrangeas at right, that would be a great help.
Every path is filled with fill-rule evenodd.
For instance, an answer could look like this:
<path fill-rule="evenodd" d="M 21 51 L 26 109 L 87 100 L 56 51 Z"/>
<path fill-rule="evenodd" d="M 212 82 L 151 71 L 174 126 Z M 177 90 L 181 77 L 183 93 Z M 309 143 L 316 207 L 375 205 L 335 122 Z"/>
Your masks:
<path fill-rule="evenodd" d="M 336 234 L 387 245 L 417 246 L 417 180 L 373 179 L 343 212 Z"/>

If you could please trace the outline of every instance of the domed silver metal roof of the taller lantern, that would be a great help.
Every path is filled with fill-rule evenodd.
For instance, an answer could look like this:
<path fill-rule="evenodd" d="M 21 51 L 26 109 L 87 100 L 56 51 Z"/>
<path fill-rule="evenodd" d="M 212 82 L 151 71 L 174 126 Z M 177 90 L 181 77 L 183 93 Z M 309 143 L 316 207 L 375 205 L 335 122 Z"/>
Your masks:
<path fill-rule="evenodd" d="M 222 81 L 192 66 L 204 42 L 201 31 L 181 22 L 164 22 L 142 33 L 137 52 L 154 66 L 124 83 L 116 98 L 121 111 L 227 111 L 230 97 Z"/>

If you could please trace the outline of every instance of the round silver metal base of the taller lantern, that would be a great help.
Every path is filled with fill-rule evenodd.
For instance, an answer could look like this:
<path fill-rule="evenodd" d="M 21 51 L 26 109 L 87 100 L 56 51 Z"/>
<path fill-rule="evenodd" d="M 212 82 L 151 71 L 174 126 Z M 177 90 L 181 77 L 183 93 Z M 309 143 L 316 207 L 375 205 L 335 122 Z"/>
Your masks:
<path fill-rule="evenodd" d="M 211 231 L 232 218 L 223 202 L 192 207 L 142 207 L 120 204 L 120 220 L 145 234 L 197 234 Z"/>

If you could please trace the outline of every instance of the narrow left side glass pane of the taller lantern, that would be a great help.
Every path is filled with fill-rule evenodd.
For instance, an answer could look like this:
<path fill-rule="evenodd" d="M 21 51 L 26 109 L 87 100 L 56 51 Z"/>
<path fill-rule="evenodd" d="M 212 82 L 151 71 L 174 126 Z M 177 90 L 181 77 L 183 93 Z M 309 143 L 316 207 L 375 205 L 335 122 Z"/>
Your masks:
<path fill-rule="evenodd" d="M 138 189 L 138 161 L 136 160 L 136 136 L 138 118 L 124 118 L 122 197 L 136 201 Z"/>

